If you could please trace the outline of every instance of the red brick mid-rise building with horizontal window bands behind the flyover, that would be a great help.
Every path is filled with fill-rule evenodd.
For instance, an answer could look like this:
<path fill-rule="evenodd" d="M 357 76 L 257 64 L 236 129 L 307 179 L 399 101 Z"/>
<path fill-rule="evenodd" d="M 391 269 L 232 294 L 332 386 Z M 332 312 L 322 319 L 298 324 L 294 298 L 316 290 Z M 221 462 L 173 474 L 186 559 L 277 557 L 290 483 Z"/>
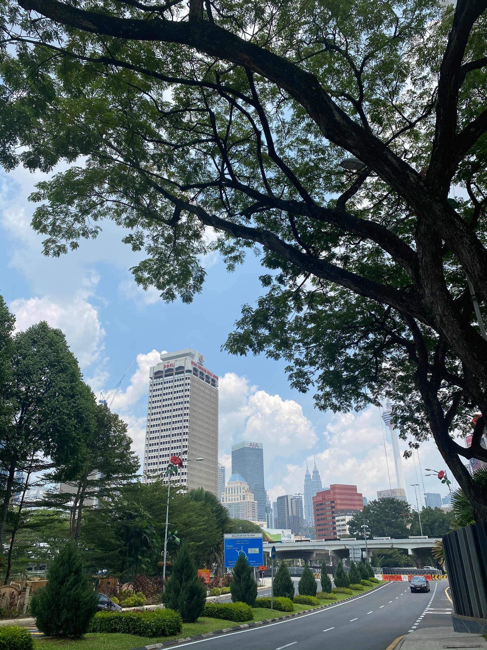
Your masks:
<path fill-rule="evenodd" d="M 364 499 L 356 486 L 334 484 L 313 497 L 315 539 L 337 539 L 335 517 L 353 515 L 364 507 Z"/>

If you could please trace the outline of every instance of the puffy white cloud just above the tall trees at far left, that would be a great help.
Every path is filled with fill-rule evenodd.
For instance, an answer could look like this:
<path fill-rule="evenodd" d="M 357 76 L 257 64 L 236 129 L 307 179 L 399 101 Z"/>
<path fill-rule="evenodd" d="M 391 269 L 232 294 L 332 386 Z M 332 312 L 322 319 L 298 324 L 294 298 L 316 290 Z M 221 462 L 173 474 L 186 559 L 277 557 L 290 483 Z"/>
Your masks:
<path fill-rule="evenodd" d="M 29 326 L 45 320 L 51 327 L 59 328 L 66 335 L 68 345 L 81 367 L 97 361 L 103 350 L 103 330 L 95 307 L 86 298 L 77 296 L 67 304 L 44 298 L 16 298 L 10 303 L 16 316 L 16 328 L 26 330 Z"/>

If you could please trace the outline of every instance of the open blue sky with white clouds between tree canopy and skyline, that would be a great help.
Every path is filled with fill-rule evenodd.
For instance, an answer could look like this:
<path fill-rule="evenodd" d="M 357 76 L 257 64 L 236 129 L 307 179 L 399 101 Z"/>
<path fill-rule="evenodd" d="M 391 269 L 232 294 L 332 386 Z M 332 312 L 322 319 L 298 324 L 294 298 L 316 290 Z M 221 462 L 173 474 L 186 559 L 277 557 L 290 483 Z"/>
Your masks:
<path fill-rule="evenodd" d="M 221 352 L 241 305 L 253 304 L 260 295 L 257 257 L 250 254 L 228 274 L 221 260 L 209 255 L 203 293 L 190 305 L 166 304 L 155 290 L 136 286 L 129 268 L 140 258 L 121 243 L 123 232 L 111 222 L 96 240 L 81 242 L 76 252 L 60 259 L 42 255 L 42 237 L 30 226 L 34 205 L 27 200 L 42 178 L 23 169 L 0 172 L 0 293 L 16 314 L 19 329 L 44 319 L 66 333 L 97 395 L 112 389 L 130 367 L 112 408 L 128 422 L 141 460 L 148 368 L 162 350 L 192 347 L 220 377 L 219 456 L 227 478 L 231 445 L 250 439 L 264 443 L 272 500 L 303 491 L 306 459 L 312 465 L 314 456 L 323 484 L 356 484 L 369 499 L 377 489 L 389 487 L 389 474 L 395 487 L 392 448 L 378 409 L 320 413 L 310 395 L 290 388 L 284 362 Z M 401 441 L 400 447 L 406 443 Z M 432 442 L 421 448 L 419 460 L 422 467 L 444 465 Z M 408 460 L 403 467 L 407 484 L 418 482 L 422 492 L 424 482 L 425 491 L 446 493 L 436 478 L 421 480 L 417 458 L 416 465 Z"/>

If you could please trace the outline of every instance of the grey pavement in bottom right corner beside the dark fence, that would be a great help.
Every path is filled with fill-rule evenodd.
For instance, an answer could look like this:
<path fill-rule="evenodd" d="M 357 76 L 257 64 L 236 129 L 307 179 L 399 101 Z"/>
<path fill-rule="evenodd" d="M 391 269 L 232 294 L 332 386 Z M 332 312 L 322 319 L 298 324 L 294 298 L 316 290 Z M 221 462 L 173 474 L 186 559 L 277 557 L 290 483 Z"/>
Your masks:
<path fill-rule="evenodd" d="M 487 650 L 487 640 L 482 634 L 454 632 L 453 627 L 425 627 L 403 636 L 390 650 L 456 650 L 471 648 Z M 388 649 L 389 650 L 389 649 Z"/>

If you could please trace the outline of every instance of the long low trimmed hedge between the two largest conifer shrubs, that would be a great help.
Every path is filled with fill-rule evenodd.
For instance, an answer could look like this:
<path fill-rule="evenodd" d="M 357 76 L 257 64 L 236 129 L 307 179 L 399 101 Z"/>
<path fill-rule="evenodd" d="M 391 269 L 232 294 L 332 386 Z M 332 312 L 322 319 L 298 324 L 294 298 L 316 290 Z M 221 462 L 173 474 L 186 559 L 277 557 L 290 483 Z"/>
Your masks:
<path fill-rule="evenodd" d="M 169 609 L 154 612 L 97 612 L 90 632 L 123 632 L 136 636 L 173 636 L 182 630 L 179 612 Z"/>

